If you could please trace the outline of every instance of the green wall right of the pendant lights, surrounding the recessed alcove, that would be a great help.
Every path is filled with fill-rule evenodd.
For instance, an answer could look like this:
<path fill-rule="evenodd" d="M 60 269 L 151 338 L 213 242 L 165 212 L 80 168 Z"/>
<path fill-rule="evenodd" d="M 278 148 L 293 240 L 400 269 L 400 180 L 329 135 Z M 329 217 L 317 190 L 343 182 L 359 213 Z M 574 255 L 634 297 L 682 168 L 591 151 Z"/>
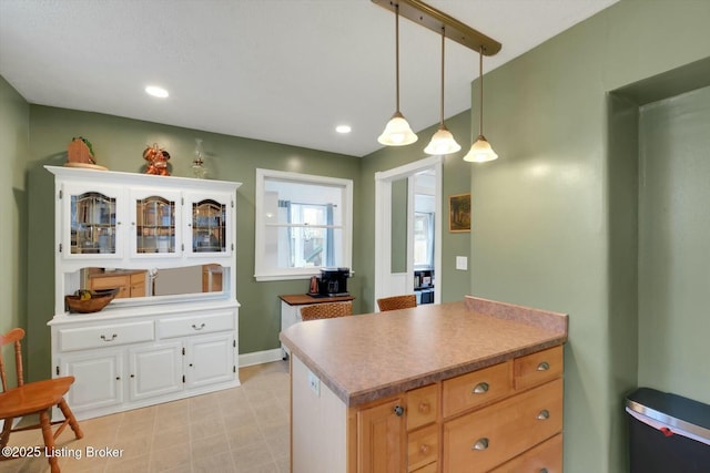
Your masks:
<path fill-rule="evenodd" d="M 500 160 L 471 176 L 470 291 L 570 315 L 566 472 L 626 471 L 637 385 L 638 105 L 609 93 L 710 56 L 709 22 L 710 2 L 621 0 L 486 75 Z"/>

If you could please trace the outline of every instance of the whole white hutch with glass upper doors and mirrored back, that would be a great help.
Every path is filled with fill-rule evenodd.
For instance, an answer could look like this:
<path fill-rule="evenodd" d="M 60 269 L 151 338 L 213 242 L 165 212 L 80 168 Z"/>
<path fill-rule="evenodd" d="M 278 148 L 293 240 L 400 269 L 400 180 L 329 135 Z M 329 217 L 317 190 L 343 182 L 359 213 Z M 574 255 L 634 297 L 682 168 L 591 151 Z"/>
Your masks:
<path fill-rule="evenodd" d="M 52 376 L 75 378 L 68 395 L 74 414 L 88 419 L 239 385 L 241 184 L 45 167 L 55 184 Z M 123 288 L 99 312 L 65 309 L 65 295 L 123 275 L 140 275 L 130 279 L 140 287 Z M 158 290 L 161 279 L 174 287 Z"/>

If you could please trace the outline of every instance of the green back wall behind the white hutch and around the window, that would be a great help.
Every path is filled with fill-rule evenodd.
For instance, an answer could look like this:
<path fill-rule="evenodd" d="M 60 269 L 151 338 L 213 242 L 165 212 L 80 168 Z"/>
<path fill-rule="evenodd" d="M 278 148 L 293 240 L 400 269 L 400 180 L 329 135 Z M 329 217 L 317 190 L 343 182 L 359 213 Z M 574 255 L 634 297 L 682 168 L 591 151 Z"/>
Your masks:
<path fill-rule="evenodd" d="M 237 299 L 240 309 L 240 353 L 274 349 L 280 346 L 280 294 L 302 294 L 307 280 L 256 282 L 254 280 L 254 183 L 257 167 L 305 174 L 354 178 L 354 198 L 358 198 L 358 158 L 274 143 L 205 133 L 97 113 L 47 106 L 30 106 L 31 155 L 33 166 L 28 169 L 33 188 L 30 214 L 34 227 L 29 233 L 31 287 L 53 286 L 53 200 L 52 175 L 41 166 L 62 165 L 67 145 L 73 136 L 84 136 L 92 144 L 99 164 L 112 171 L 142 172 L 142 152 L 148 144 L 158 143 L 171 154 L 170 164 L 175 176 L 191 176 L 190 164 L 195 138 L 203 140 L 209 177 L 241 182 L 237 189 Z M 357 208 L 354 215 L 358 218 Z M 358 238 L 356 234 L 355 239 Z M 348 281 L 359 310 L 359 267 L 353 263 L 355 277 Z M 53 316 L 52 291 L 34 291 L 29 300 L 29 327 L 34 335 L 30 347 L 31 376 L 49 374 L 50 333 L 45 323 Z M 36 363 L 32 363 L 37 360 Z"/>

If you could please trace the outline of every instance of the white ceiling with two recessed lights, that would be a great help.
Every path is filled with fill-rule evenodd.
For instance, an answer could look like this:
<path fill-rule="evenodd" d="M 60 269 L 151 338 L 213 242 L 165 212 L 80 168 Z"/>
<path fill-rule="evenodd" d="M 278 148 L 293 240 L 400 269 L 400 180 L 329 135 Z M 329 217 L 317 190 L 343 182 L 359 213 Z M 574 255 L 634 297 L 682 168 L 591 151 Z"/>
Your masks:
<path fill-rule="evenodd" d="M 616 1 L 427 3 L 503 43 L 490 71 Z M 439 121 L 440 39 L 399 30 L 400 109 L 418 131 Z M 394 59 L 394 14 L 369 0 L 0 0 L 0 74 L 30 103 L 354 156 L 381 147 Z M 470 107 L 477 74 L 478 55 L 446 41 L 447 117 Z"/>

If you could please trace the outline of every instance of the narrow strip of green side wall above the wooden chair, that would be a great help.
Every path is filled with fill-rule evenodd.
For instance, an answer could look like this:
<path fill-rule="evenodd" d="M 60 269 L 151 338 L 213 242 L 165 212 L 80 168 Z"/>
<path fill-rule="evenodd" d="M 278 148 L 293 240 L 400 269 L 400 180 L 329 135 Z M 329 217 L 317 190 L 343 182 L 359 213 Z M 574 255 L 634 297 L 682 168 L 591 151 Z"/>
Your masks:
<path fill-rule="evenodd" d="M 30 107 L 0 76 L 0 333 L 27 327 L 27 186 L 24 164 L 29 160 Z M 29 337 L 29 336 L 28 336 Z M 8 377 L 14 385 L 14 359 L 8 357 Z M 27 351 L 27 346 L 23 346 Z"/>

